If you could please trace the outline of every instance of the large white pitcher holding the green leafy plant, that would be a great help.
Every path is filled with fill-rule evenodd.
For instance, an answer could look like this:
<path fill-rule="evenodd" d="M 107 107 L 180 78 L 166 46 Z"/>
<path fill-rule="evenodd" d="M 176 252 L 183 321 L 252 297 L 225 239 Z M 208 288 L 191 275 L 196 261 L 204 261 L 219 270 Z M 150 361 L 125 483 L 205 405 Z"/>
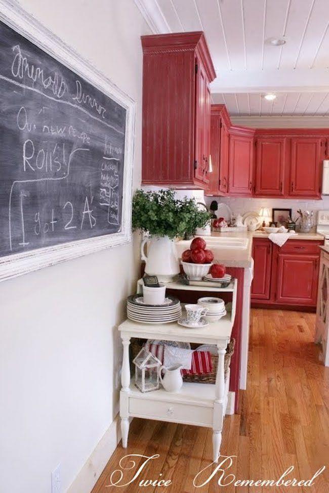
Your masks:
<path fill-rule="evenodd" d="M 144 252 L 147 245 L 147 256 Z M 145 260 L 145 274 L 157 276 L 161 282 L 169 282 L 180 273 L 174 240 L 163 237 L 144 238 L 141 244 L 141 258 Z"/>

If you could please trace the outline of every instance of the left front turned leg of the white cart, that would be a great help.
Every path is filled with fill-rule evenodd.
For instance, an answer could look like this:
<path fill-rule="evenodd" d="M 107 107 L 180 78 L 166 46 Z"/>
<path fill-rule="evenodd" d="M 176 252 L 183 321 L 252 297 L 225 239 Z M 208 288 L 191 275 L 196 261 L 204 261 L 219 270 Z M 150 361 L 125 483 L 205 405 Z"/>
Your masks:
<path fill-rule="evenodd" d="M 129 398 L 127 392 L 129 392 L 130 386 L 130 363 L 129 363 L 129 344 L 130 337 L 121 334 L 122 345 L 124 346 L 124 355 L 122 357 L 121 368 L 121 392 L 120 392 L 120 418 L 121 418 L 121 435 L 122 435 L 122 447 L 127 449 L 128 446 L 128 433 L 129 433 Z"/>

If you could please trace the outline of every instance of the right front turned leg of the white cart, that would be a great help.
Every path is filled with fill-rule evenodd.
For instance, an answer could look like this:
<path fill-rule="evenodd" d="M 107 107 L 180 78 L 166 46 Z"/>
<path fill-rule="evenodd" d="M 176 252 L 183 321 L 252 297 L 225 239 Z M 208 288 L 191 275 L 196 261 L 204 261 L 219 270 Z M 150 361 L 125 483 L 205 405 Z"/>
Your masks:
<path fill-rule="evenodd" d="M 218 462 L 220 447 L 222 442 L 222 428 L 225 415 L 224 394 L 225 394 L 225 375 L 224 375 L 224 356 L 226 347 L 217 345 L 218 368 L 215 384 L 216 399 L 214 402 L 214 424 L 213 424 L 213 459 Z"/>

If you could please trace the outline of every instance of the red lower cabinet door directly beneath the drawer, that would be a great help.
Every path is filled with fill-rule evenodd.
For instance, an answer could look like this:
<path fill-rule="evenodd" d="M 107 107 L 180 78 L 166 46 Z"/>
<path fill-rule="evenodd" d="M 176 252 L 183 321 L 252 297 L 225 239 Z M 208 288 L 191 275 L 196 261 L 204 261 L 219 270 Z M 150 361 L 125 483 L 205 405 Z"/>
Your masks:
<path fill-rule="evenodd" d="M 318 255 L 278 253 L 275 300 L 315 306 L 318 271 Z"/>

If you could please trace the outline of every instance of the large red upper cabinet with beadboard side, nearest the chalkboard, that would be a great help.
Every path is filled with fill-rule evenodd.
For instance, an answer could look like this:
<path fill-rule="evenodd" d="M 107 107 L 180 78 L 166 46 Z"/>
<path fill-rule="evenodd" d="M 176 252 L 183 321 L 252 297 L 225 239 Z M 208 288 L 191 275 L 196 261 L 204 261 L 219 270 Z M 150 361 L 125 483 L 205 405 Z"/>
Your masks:
<path fill-rule="evenodd" d="M 202 32 L 142 36 L 142 183 L 207 188 L 214 66 Z"/>

